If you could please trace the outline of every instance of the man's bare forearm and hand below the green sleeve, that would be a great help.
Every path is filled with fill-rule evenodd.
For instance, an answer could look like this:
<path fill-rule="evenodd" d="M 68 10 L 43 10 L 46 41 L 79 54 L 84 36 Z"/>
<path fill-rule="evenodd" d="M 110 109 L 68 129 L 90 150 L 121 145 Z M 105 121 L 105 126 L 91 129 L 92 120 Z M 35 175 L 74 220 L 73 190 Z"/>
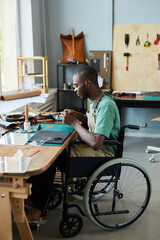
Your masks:
<path fill-rule="evenodd" d="M 103 145 L 105 136 L 89 132 L 73 115 L 68 112 L 68 110 L 61 113 L 61 119 L 64 123 L 72 126 L 77 131 L 81 139 L 94 150 L 98 150 Z"/>

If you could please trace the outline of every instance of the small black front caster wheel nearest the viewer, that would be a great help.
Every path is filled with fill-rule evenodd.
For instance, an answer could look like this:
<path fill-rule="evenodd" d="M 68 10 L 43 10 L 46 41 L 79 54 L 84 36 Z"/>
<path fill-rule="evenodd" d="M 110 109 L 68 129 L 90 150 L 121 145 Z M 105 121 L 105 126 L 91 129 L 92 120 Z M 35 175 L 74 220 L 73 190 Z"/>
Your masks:
<path fill-rule="evenodd" d="M 78 214 L 67 214 L 60 222 L 59 231 L 66 238 L 74 237 L 81 231 L 82 226 L 83 221 Z"/>

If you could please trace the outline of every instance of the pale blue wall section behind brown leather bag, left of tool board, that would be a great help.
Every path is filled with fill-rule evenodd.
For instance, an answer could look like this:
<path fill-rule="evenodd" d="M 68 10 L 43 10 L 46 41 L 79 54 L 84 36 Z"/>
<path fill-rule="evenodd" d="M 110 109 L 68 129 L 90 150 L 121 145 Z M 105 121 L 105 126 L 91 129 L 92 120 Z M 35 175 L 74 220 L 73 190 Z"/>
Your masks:
<path fill-rule="evenodd" d="M 89 50 L 112 49 L 112 0 L 45 0 L 49 83 L 56 86 L 56 63 L 62 58 L 60 34 L 85 35 L 85 55 Z M 69 80 L 70 81 L 70 80 Z"/>

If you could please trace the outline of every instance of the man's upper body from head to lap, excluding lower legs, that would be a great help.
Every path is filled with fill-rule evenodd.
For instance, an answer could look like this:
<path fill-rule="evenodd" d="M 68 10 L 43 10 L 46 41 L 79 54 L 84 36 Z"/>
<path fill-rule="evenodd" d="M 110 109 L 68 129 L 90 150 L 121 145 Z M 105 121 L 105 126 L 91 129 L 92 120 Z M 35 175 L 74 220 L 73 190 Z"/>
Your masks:
<path fill-rule="evenodd" d="M 120 117 L 115 102 L 99 88 L 97 72 L 91 67 L 78 69 L 73 76 L 73 84 L 77 96 L 90 99 L 90 111 L 86 115 L 68 109 L 61 113 L 62 121 L 75 128 L 86 143 L 75 145 L 72 156 L 113 156 L 115 146 L 103 143 L 105 138 L 117 139 L 119 135 Z"/>

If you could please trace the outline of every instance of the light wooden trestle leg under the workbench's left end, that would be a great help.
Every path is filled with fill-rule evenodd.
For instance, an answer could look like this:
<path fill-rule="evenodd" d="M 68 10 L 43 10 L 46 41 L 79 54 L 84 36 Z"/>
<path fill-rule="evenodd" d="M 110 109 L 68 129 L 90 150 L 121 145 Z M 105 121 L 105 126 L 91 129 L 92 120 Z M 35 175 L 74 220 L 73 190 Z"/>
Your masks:
<path fill-rule="evenodd" d="M 12 219 L 17 224 L 22 240 L 33 240 L 24 211 L 24 199 L 31 194 L 31 184 L 22 177 L 12 177 L 12 182 L 0 181 L 0 239 L 12 240 Z"/>

